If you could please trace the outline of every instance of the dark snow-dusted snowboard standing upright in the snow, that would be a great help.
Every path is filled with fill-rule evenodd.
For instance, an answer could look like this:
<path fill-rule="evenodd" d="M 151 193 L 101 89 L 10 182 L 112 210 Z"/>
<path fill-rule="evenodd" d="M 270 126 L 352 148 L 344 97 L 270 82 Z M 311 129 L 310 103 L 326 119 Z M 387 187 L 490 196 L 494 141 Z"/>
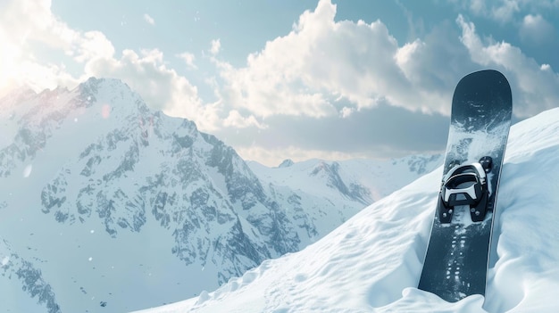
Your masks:
<path fill-rule="evenodd" d="M 445 301 L 485 295 L 512 109 L 511 87 L 496 70 L 473 72 L 455 88 L 437 210 L 418 285 Z"/>

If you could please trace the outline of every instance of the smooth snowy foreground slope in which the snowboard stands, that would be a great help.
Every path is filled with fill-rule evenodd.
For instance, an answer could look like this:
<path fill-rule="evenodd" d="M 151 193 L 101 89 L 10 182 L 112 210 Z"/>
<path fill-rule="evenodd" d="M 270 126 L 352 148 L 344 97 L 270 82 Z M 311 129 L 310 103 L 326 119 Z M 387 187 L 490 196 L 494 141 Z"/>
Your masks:
<path fill-rule="evenodd" d="M 303 251 L 266 260 L 214 292 L 141 312 L 556 312 L 559 109 L 511 129 L 486 299 L 449 303 L 415 288 L 441 173 L 373 203 Z"/>

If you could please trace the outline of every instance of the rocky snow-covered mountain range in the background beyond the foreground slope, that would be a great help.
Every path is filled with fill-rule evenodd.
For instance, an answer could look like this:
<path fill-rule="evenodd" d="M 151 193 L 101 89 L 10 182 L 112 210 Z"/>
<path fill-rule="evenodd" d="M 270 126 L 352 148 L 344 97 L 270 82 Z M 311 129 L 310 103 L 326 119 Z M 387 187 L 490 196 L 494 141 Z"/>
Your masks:
<path fill-rule="evenodd" d="M 1 311 L 121 312 L 213 290 L 442 162 L 249 167 L 113 79 L 19 89 L 0 108 Z"/>

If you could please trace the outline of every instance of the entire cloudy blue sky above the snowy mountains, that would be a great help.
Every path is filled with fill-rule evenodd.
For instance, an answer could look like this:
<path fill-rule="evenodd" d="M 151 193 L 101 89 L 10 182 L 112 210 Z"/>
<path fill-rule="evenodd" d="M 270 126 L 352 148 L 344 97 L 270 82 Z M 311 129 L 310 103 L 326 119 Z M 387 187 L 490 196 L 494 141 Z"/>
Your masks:
<path fill-rule="evenodd" d="M 119 78 L 246 160 L 443 152 L 456 83 L 558 106 L 559 0 L 0 0 L 0 96 Z M 0 112 L 1 114 L 1 112 Z"/>

